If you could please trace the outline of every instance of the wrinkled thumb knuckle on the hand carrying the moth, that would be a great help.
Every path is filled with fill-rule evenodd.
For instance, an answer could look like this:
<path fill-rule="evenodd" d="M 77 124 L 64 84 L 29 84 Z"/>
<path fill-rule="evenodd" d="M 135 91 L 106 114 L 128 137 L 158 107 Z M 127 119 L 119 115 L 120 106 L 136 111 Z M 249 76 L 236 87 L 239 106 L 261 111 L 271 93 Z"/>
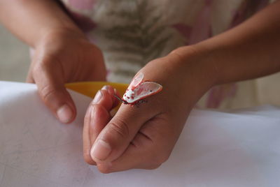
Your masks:
<path fill-rule="evenodd" d="M 127 122 L 122 119 L 116 119 L 116 121 L 110 122 L 109 126 L 113 133 L 117 133 L 120 137 L 128 137 L 130 135 L 130 130 L 128 128 Z"/>

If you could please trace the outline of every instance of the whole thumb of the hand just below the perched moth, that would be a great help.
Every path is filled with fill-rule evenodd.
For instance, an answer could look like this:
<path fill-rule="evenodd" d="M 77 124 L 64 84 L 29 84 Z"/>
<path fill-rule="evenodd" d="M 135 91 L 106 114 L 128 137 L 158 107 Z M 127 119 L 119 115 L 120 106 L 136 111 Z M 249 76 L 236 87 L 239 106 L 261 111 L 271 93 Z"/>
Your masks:
<path fill-rule="evenodd" d="M 147 105 L 121 105 L 92 145 L 90 155 L 97 163 L 111 163 L 121 156 L 146 121 L 153 117 Z"/>

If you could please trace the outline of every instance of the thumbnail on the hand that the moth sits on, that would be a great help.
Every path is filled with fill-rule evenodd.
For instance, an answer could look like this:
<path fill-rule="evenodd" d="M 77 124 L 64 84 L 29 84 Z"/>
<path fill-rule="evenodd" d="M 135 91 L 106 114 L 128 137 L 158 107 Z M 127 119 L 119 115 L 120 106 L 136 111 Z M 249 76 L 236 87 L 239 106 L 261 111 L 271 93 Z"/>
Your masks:
<path fill-rule="evenodd" d="M 104 140 L 97 140 L 90 150 L 90 156 L 93 160 L 105 160 L 111 153 L 110 145 Z"/>

